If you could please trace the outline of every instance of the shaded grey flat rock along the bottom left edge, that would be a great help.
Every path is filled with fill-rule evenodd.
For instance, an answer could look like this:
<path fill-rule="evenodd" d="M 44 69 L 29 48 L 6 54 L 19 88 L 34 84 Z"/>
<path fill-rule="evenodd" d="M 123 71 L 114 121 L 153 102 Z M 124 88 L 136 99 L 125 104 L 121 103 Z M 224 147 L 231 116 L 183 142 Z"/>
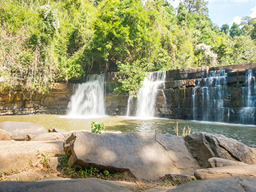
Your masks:
<path fill-rule="evenodd" d="M 105 191 L 129 191 L 108 181 L 97 178 L 85 178 L 65 181 L 3 181 L 0 192 L 4 191 L 30 191 L 30 192 L 105 192 Z"/>

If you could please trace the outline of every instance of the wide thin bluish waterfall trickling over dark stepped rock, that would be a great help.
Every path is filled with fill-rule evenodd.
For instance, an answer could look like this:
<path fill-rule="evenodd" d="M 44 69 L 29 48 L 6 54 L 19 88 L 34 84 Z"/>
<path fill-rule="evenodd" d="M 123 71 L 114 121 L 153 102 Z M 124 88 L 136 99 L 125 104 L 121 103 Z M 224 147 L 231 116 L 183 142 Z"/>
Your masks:
<path fill-rule="evenodd" d="M 225 70 L 215 70 L 196 80 L 192 93 L 194 120 L 224 122 L 226 77 Z"/>

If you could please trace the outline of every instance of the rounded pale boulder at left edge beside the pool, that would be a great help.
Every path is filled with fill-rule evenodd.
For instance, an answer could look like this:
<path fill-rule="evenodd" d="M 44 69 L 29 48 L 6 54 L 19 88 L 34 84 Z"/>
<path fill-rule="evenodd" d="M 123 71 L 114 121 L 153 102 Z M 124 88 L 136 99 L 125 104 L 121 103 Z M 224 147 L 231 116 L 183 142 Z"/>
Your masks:
<path fill-rule="evenodd" d="M 47 133 L 46 128 L 40 124 L 28 122 L 3 122 L 0 124 L 0 129 L 9 132 L 11 139 L 16 141 L 25 141 L 27 134 L 35 136 Z"/>

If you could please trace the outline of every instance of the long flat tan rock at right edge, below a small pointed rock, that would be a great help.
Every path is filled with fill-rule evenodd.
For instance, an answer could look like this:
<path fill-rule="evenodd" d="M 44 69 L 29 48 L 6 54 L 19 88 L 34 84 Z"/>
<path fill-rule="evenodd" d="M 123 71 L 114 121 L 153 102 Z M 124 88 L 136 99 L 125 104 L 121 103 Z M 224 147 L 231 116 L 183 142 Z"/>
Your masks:
<path fill-rule="evenodd" d="M 196 179 L 225 178 L 230 176 L 256 177 L 256 164 L 243 166 L 223 166 L 196 170 Z"/>

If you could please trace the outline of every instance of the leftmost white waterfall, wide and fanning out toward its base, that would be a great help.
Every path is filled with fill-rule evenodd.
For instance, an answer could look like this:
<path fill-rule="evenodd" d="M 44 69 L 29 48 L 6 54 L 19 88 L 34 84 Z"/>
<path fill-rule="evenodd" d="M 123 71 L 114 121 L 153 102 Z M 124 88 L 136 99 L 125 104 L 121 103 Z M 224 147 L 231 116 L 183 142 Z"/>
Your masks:
<path fill-rule="evenodd" d="M 105 74 L 88 75 L 87 82 L 78 85 L 68 104 L 68 116 L 95 117 L 105 114 Z"/>

